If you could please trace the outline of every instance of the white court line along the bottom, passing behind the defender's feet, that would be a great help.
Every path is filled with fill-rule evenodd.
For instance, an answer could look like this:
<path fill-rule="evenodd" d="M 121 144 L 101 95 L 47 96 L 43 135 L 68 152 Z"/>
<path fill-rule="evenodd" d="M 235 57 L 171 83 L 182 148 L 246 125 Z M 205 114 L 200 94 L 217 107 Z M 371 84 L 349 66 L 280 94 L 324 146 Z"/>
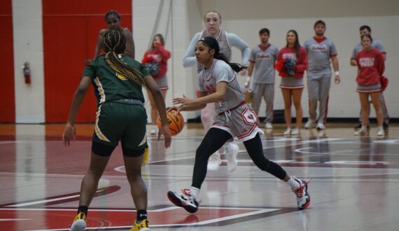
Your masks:
<path fill-rule="evenodd" d="M 225 208 L 223 208 L 225 209 Z M 240 208 L 241 209 L 241 208 Z M 257 209 L 258 210 L 258 209 Z M 152 228 L 156 227 L 174 227 L 174 226 L 193 226 L 193 225 L 207 225 L 210 223 L 216 223 L 216 222 L 221 222 L 221 221 L 228 221 L 232 220 L 235 218 L 242 218 L 245 216 L 253 216 L 256 214 L 265 214 L 270 211 L 276 211 L 279 209 L 260 209 L 258 211 L 252 211 L 244 214 L 237 214 L 237 215 L 232 215 L 232 216 L 225 216 L 223 218 L 216 218 L 216 219 L 211 219 L 208 221 L 200 221 L 200 222 L 195 222 L 195 223 L 185 223 L 185 224 L 162 224 L 162 225 L 151 225 Z M 91 210 L 90 210 L 91 211 Z M 87 227 L 87 229 L 125 229 L 125 228 L 131 228 L 132 225 L 130 226 L 109 226 L 109 227 Z M 62 231 L 62 230 L 67 230 L 67 229 L 55 229 L 55 230 L 29 230 L 29 231 Z"/>

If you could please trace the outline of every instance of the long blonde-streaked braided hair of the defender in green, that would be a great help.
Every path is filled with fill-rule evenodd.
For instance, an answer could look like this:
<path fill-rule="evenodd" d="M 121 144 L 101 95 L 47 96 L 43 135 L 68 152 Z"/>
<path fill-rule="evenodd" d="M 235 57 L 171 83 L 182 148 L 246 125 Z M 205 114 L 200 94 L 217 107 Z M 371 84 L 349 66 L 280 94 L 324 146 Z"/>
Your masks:
<path fill-rule="evenodd" d="M 122 62 L 118 54 L 125 52 L 126 38 L 120 30 L 112 29 L 107 31 L 102 38 L 102 48 L 106 52 L 105 62 L 114 71 L 127 77 L 133 83 L 144 85 L 144 75 L 134 66 Z"/>

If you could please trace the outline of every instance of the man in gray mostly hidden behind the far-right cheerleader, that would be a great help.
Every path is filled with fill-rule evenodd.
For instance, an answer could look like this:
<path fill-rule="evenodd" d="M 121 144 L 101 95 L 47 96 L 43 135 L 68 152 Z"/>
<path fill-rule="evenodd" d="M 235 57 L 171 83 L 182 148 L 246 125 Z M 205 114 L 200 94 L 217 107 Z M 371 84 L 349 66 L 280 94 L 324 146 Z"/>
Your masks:
<path fill-rule="evenodd" d="M 371 28 L 369 26 L 367 26 L 367 25 L 361 26 L 359 31 L 360 31 L 360 39 L 363 36 L 363 34 L 371 34 Z M 376 48 L 377 50 L 381 51 L 382 56 L 384 57 L 384 60 L 386 60 L 386 50 L 384 48 L 384 45 L 382 45 L 381 41 L 373 38 L 371 46 L 373 48 Z M 352 52 L 352 55 L 351 55 L 351 66 L 356 66 L 357 67 L 356 54 L 362 49 L 363 49 L 363 46 L 362 46 L 361 43 L 358 43 L 358 45 L 356 45 L 355 48 L 353 48 L 353 52 Z M 384 94 L 382 94 L 382 92 L 381 92 L 381 99 L 380 99 L 379 103 L 381 104 L 381 109 L 382 109 L 382 113 L 383 113 L 383 116 L 384 116 L 384 123 L 382 123 L 382 125 L 384 127 L 384 130 L 386 130 L 389 127 L 389 125 L 388 125 L 388 123 L 389 123 L 389 115 L 388 115 L 388 110 L 386 109 Z M 362 111 L 361 110 L 360 110 L 359 122 L 360 122 L 360 124 L 355 127 L 355 130 L 357 130 L 358 128 L 362 127 Z M 368 127 L 368 125 L 367 125 L 367 127 Z M 370 127 L 368 127 L 368 128 L 370 128 Z"/>

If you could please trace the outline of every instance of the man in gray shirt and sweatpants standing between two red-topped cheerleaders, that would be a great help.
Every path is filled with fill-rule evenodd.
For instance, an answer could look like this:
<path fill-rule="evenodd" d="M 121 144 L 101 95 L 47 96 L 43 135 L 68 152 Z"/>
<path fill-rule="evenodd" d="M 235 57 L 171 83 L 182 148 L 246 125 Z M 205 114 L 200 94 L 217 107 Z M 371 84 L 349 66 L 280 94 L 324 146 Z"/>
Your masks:
<path fill-rule="evenodd" d="M 314 23 L 315 35 L 304 42 L 309 66 L 307 68 L 307 92 L 309 97 L 309 119 L 305 129 L 317 123 L 317 130 L 325 130 L 328 111 L 328 93 L 331 85 L 331 66 L 335 71 L 335 83 L 339 83 L 339 64 L 337 49 L 330 38 L 325 38 L 325 22 L 318 20 Z M 318 116 L 316 113 L 317 102 Z"/>

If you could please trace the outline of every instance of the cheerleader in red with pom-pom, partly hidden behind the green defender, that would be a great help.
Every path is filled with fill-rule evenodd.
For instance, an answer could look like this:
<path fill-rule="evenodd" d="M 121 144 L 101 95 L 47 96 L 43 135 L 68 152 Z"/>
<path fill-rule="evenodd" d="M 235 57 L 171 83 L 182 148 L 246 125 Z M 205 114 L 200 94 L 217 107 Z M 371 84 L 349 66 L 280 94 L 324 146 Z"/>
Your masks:
<path fill-rule="evenodd" d="M 151 45 L 151 49 L 147 50 L 144 53 L 143 60 L 141 61 L 144 64 L 151 76 L 153 76 L 155 82 L 157 82 L 160 90 L 162 92 L 162 96 L 166 97 L 166 93 L 168 90 L 167 85 L 167 60 L 170 58 L 169 50 L 164 48 L 165 40 L 162 34 L 155 34 L 153 38 L 153 43 Z M 157 118 L 158 111 L 155 105 L 155 101 L 153 96 L 148 93 L 148 99 L 150 99 L 151 104 L 151 130 L 150 134 L 157 134 Z"/>

